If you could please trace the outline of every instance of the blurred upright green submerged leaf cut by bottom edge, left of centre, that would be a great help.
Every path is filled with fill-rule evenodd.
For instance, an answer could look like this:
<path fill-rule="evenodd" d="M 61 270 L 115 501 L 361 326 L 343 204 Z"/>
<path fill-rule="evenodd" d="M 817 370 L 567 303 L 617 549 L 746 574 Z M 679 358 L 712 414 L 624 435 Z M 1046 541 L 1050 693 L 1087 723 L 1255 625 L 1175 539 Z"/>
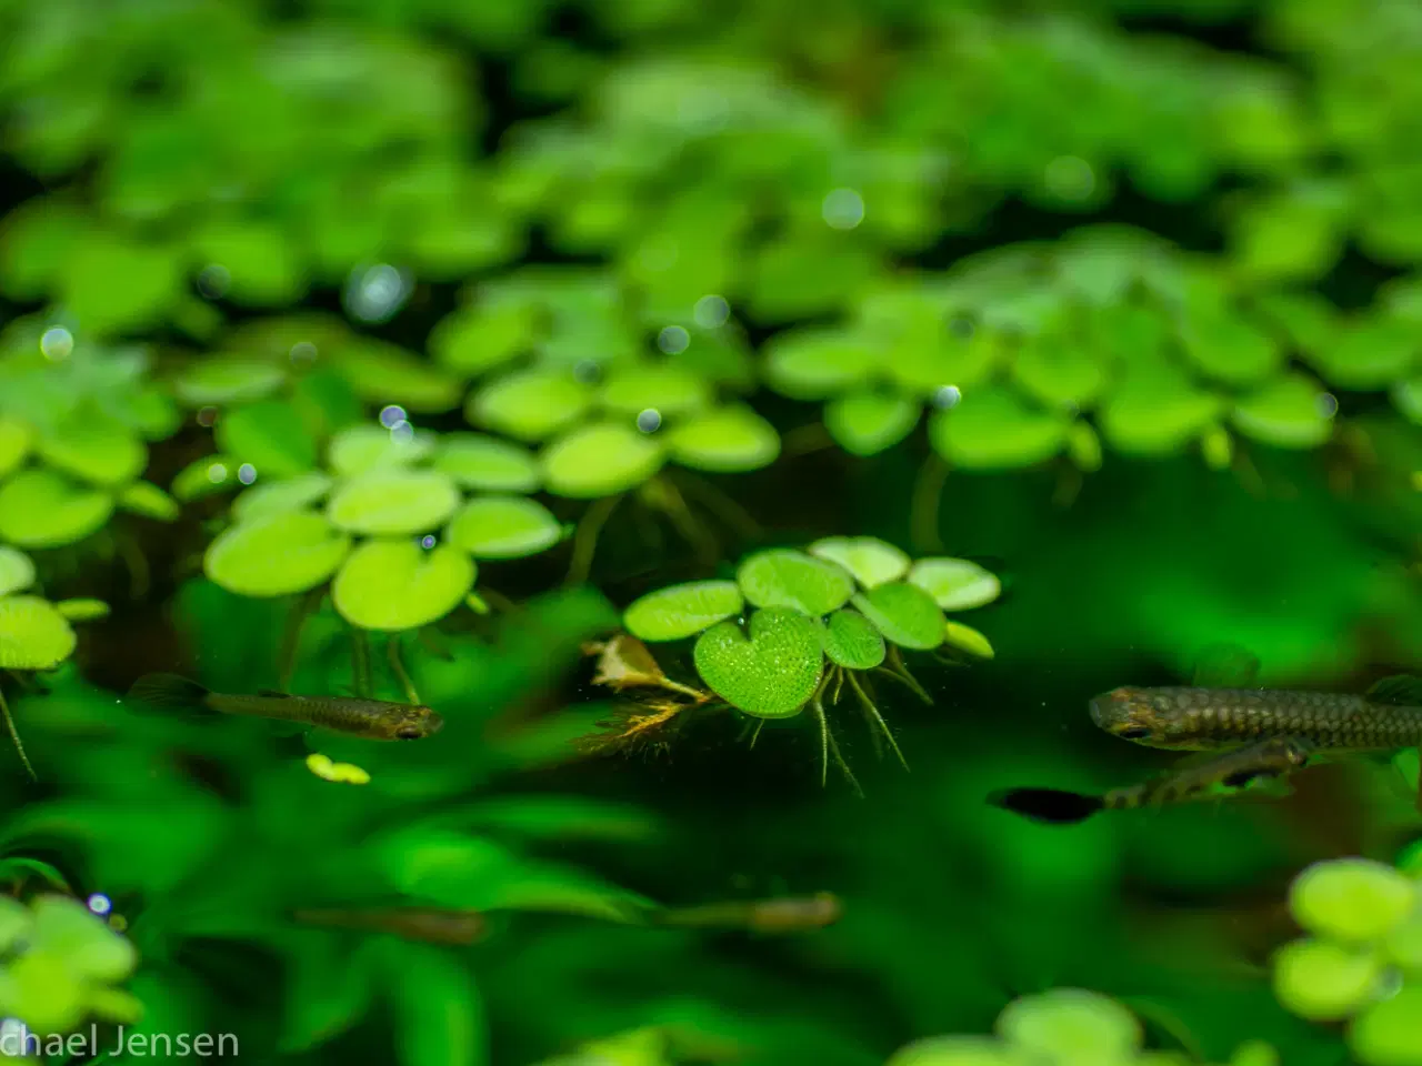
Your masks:
<path fill-rule="evenodd" d="M 468 964 L 431 944 L 387 940 L 381 949 L 400 1066 L 486 1066 L 483 998 Z"/>

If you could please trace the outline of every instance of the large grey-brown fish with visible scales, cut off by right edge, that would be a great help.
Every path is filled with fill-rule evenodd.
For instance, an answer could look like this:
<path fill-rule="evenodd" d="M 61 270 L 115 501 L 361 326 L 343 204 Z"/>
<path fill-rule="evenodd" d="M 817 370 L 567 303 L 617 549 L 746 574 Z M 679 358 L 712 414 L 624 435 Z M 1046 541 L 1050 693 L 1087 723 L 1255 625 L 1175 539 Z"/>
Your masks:
<path fill-rule="evenodd" d="M 1369 752 L 1422 742 L 1422 681 L 1384 678 L 1365 695 L 1263 688 L 1118 688 L 1091 701 L 1091 719 L 1123 741 L 1210 750 L 1297 736 L 1320 750 Z"/>

